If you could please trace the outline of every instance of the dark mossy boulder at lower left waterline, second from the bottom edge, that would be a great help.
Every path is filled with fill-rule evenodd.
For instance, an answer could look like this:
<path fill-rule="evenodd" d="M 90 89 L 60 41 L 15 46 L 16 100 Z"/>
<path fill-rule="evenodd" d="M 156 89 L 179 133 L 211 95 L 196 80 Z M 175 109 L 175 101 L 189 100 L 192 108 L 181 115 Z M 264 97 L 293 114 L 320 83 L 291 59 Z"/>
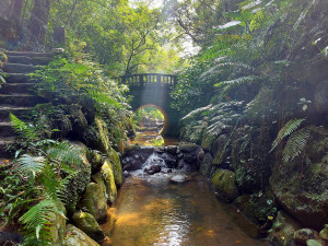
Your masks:
<path fill-rule="evenodd" d="M 75 212 L 72 216 L 72 222 L 94 241 L 102 242 L 105 238 L 103 230 L 91 213 Z"/>

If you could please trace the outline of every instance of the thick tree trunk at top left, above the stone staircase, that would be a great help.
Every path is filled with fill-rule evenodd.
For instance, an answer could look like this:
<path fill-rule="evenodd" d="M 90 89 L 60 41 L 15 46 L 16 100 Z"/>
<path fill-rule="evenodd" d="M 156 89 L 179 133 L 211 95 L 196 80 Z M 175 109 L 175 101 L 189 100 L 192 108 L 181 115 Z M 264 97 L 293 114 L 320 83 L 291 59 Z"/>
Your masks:
<path fill-rule="evenodd" d="M 31 12 L 31 20 L 28 24 L 30 37 L 32 43 L 39 47 L 45 44 L 50 1 L 51 0 L 34 0 L 34 7 Z"/>

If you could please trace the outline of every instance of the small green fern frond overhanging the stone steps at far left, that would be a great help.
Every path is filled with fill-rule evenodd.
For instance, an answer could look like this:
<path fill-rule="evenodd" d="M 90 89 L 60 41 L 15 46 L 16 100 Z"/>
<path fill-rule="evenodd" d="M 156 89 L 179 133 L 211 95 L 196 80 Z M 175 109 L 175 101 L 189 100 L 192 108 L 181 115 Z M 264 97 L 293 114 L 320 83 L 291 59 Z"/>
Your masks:
<path fill-rule="evenodd" d="M 39 139 L 35 127 L 20 120 L 13 114 L 10 114 L 10 121 L 15 132 L 17 132 L 22 139 L 25 139 L 28 142 L 33 142 Z"/>

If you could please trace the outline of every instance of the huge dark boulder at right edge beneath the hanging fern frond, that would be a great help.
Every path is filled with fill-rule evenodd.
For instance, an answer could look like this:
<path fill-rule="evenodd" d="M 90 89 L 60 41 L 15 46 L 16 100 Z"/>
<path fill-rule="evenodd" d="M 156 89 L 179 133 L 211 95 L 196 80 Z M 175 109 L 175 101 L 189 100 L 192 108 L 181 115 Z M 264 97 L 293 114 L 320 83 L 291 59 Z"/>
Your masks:
<path fill-rule="evenodd" d="M 328 221 L 328 132 L 313 130 L 305 155 L 281 162 L 270 185 L 281 206 L 305 226 L 320 230 Z"/>

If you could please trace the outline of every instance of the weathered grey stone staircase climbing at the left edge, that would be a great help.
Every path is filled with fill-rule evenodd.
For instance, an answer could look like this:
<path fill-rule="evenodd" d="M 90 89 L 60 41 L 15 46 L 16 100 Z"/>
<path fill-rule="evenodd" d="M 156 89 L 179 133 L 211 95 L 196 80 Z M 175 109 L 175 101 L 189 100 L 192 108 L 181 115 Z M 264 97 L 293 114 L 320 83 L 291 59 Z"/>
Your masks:
<path fill-rule="evenodd" d="M 0 160 L 10 157 L 7 147 L 15 141 L 15 132 L 10 124 L 10 113 L 23 117 L 42 98 L 33 93 L 36 81 L 31 80 L 28 73 L 35 72 L 39 66 L 47 65 L 51 54 L 8 51 L 8 62 L 2 67 L 7 73 L 7 83 L 0 89 Z"/>

